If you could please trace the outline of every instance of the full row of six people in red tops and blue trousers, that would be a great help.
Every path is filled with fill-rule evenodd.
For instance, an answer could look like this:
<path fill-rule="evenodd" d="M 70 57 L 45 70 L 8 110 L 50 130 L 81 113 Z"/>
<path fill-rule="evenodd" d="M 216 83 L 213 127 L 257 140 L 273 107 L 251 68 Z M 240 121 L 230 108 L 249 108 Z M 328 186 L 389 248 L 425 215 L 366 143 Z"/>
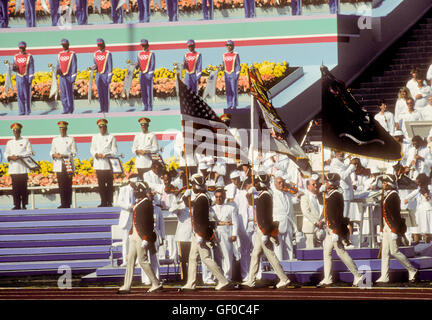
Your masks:
<path fill-rule="evenodd" d="M 126 62 L 132 67 L 131 71 L 125 79 L 125 89 L 129 94 L 130 84 L 132 83 L 133 71 L 139 71 L 139 83 L 141 89 L 141 98 L 144 105 L 144 111 L 153 110 L 153 75 L 156 67 L 156 54 L 150 50 L 150 45 L 147 39 L 140 41 L 142 50 L 138 52 L 136 62 L 127 60 Z M 198 84 L 202 73 L 202 56 L 201 53 L 195 50 L 195 41 L 188 40 L 188 52 L 185 53 L 183 63 L 178 68 L 181 74 L 185 70 L 184 81 L 188 88 L 193 92 L 198 92 Z M 222 64 L 219 70 L 225 73 L 226 85 L 226 98 L 228 108 L 236 108 L 238 106 L 238 79 L 240 76 L 240 56 L 234 52 L 234 42 L 228 40 L 225 43 L 227 52 L 222 55 Z M 48 66 L 53 70 L 54 77 L 59 75 L 60 81 L 60 97 L 63 105 L 63 114 L 71 114 L 74 112 L 74 83 L 77 77 L 77 54 L 69 49 L 69 41 L 67 39 L 61 40 L 63 50 L 59 52 L 57 64 L 53 67 L 52 64 Z M 6 64 L 10 64 L 8 68 L 7 78 L 10 79 L 11 72 L 17 74 L 17 99 L 19 115 L 29 115 L 31 113 L 31 88 L 34 78 L 34 57 L 27 52 L 27 44 L 21 41 L 18 44 L 19 53 L 14 56 L 12 63 L 7 60 Z M 96 78 L 97 94 L 99 99 L 99 113 L 109 112 L 110 102 L 110 83 L 113 76 L 113 62 L 112 53 L 106 49 L 105 41 L 101 38 L 97 39 L 98 50 L 93 55 L 94 64 L 88 68 L 91 70 L 90 84 L 89 84 L 89 100 L 92 95 L 92 83 L 94 74 Z M 6 87 L 8 83 L 6 80 Z M 126 85 L 126 83 L 129 83 Z M 11 82 L 9 84 L 11 86 Z M 55 88 L 57 93 L 57 81 L 54 81 L 52 87 Z M 9 89 L 12 89 L 10 87 Z M 53 88 L 51 88 L 53 91 Z"/>

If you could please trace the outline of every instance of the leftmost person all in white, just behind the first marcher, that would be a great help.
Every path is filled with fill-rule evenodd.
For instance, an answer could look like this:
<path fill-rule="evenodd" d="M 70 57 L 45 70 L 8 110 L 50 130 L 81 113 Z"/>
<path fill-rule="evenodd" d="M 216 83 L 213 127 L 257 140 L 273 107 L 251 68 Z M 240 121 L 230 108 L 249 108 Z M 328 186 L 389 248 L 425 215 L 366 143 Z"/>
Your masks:
<path fill-rule="evenodd" d="M 120 207 L 118 227 L 122 230 L 122 267 L 127 265 L 129 252 L 129 231 L 132 228 L 132 209 L 135 205 L 134 187 L 137 182 L 137 175 L 131 174 L 129 183 L 120 187 L 118 197 L 115 201 L 116 207 Z"/>

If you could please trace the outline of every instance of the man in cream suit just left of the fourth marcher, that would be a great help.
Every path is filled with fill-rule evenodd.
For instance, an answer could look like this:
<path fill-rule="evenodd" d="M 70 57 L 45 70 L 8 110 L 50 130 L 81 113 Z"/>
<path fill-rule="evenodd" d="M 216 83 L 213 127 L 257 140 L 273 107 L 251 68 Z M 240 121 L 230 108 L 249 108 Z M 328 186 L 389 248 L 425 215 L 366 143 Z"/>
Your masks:
<path fill-rule="evenodd" d="M 302 232 L 306 238 L 306 249 L 319 247 L 325 237 L 323 207 L 319 198 L 319 176 L 312 175 L 306 180 L 305 195 L 300 199 L 303 214 Z"/>

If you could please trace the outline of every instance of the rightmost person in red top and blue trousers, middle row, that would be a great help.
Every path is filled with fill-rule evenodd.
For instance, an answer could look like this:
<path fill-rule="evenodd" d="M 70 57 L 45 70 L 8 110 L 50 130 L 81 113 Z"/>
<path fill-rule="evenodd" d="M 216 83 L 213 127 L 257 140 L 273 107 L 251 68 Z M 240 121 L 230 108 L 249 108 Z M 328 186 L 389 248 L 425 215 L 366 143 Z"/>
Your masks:
<path fill-rule="evenodd" d="M 226 42 L 227 52 L 223 54 L 223 68 L 225 71 L 225 88 L 228 109 L 238 106 L 238 79 L 240 76 L 240 56 L 234 52 L 234 41 Z"/>

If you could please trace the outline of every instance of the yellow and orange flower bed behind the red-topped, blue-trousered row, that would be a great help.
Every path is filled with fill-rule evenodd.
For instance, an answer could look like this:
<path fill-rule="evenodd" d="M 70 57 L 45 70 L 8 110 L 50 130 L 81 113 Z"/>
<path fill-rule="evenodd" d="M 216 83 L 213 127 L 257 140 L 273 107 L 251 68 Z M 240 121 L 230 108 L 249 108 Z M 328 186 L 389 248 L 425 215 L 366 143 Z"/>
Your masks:
<path fill-rule="evenodd" d="M 249 80 L 247 76 L 247 70 L 250 65 L 245 63 L 241 64 L 241 72 L 239 77 L 238 92 L 247 93 L 249 92 Z M 278 81 L 285 78 L 288 74 L 292 73 L 295 68 L 289 67 L 286 61 L 283 62 L 269 62 L 264 61 L 261 63 L 254 63 L 254 67 L 257 68 L 263 78 L 264 84 L 267 87 L 274 86 Z M 201 81 L 199 84 L 200 92 L 204 90 L 208 76 L 211 70 L 216 70 L 216 66 L 209 65 L 206 69 L 203 69 Z M 127 69 L 114 68 L 113 77 L 110 84 L 110 95 L 111 99 L 126 99 L 126 95 L 123 91 L 123 82 L 126 77 Z M 35 72 L 35 77 L 32 85 L 32 101 L 52 101 L 54 98 L 49 98 L 51 89 L 51 72 Z M 138 80 L 139 72 L 135 70 L 132 86 L 130 90 L 130 97 L 138 98 L 141 96 L 141 90 Z M 183 73 L 184 76 L 184 73 Z M 5 92 L 5 77 L 6 74 L 0 74 L 0 102 L 10 103 L 17 100 L 16 92 L 16 75 L 12 74 L 13 90 L 9 91 L 6 96 Z M 168 98 L 176 96 L 176 71 L 169 70 L 166 68 L 159 68 L 155 70 L 153 77 L 153 93 L 154 97 L 157 98 Z M 88 83 L 90 80 L 90 72 L 87 70 L 78 72 L 77 79 L 74 86 L 75 99 L 87 99 L 88 96 Z M 60 88 L 60 86 L 58 86 Z M 225 78 L 224 73 L 219 71 L 218 79 L 216 82 L 216 94 L 225 94 Z M 96 83 L 93 81 L 92 96 L 98 97 Z"/>

